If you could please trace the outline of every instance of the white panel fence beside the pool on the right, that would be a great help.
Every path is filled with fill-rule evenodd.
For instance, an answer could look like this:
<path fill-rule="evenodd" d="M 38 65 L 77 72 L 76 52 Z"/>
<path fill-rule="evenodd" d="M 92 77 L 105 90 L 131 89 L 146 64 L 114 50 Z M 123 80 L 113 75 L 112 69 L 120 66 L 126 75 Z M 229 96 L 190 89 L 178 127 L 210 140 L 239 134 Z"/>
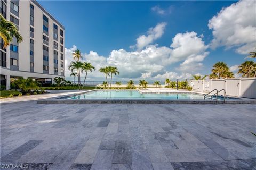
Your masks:
<path fill-rule="evenodd" d="M 226 90 L 226 95 L 256 99 L 256 78 L 191 80 L 194 91 Z M 220 92 L 222 94 L 222 92 Z"/>

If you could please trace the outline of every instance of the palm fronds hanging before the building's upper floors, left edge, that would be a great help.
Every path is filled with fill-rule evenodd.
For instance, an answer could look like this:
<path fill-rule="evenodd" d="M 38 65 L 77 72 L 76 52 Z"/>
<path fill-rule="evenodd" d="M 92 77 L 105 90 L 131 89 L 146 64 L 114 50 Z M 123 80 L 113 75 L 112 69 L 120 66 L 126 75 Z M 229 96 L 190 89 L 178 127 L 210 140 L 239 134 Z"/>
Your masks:
<path fill-rule="evenodd" d="M 4 41 L 3 48 L 10 45 L 13 37 L 17 39 L 17 43 L 23 40 L 18 28 L 12 22 L 7 21 L 2 14 L 0 14 L 0 37 Z"/>

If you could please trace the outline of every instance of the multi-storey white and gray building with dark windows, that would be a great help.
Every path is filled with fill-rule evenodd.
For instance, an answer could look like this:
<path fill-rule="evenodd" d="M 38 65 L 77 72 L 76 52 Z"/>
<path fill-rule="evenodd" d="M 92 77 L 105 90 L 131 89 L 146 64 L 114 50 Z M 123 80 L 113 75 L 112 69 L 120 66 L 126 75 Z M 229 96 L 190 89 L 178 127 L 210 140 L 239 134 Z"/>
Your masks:
<path fill-rule="evenodd" d="M 6 49 L 0 41 L 1 85 L 10 89 L 18 78 L 33 78 L 42 84 L 65 76 L 65 29 L 34 0 L 0 0 L 0 13 L 13 22 L 23 41 L 13 38 Z"/>

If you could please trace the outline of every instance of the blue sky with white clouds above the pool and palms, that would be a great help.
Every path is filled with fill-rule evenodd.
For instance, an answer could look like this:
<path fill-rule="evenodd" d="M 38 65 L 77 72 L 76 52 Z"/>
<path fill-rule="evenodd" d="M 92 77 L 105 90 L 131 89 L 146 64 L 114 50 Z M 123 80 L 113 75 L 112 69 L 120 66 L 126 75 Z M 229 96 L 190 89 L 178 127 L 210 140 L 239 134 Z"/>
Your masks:
<path fill-rule="evenodd" d="M 256 1 L 38 2 L 65 27 L 68 80 L 75 49 L 97 70 L 116 66 L 114 81 L 163 81 L 210 74 L 219 61 L 237 73 L 256 47 Z"/>

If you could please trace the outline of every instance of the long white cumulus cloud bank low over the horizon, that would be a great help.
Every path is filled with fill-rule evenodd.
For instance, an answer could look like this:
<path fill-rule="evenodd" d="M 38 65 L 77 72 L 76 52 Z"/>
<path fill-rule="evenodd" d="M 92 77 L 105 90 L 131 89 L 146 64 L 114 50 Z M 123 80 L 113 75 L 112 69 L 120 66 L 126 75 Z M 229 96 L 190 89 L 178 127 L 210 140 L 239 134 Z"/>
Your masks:
<path fill-rule="evenodd" d="M 125 49 L 112 50 L 109 56 L 101 56 L 97 52 L 82 53 L 83 59 L 92 63 L 97 69 L 89 75 L 93 79 L 104 79 L 104 75 L 98 71 L 100 67 L 107 65 L 116 66 L 120 72 L 115 79 L 146 79 L 164 80 L 169 79 L 189 79 L 202 66 L 202 61 L 209 54 L 206 52 L 207 45 L 195 32 L 178 33 L 173 39 L 170 47 L 158 47 L 148 45 L 142 50 Z M 65 49 L 66 66 L 72 59 L 72 52 L 76 49 L 73 46 Z M 178 71 L 175 73 L 168 71 L 168 68 L 177 62 L 181 62 Z M 66 71 L 66 75 L 70 72 Z"/>

